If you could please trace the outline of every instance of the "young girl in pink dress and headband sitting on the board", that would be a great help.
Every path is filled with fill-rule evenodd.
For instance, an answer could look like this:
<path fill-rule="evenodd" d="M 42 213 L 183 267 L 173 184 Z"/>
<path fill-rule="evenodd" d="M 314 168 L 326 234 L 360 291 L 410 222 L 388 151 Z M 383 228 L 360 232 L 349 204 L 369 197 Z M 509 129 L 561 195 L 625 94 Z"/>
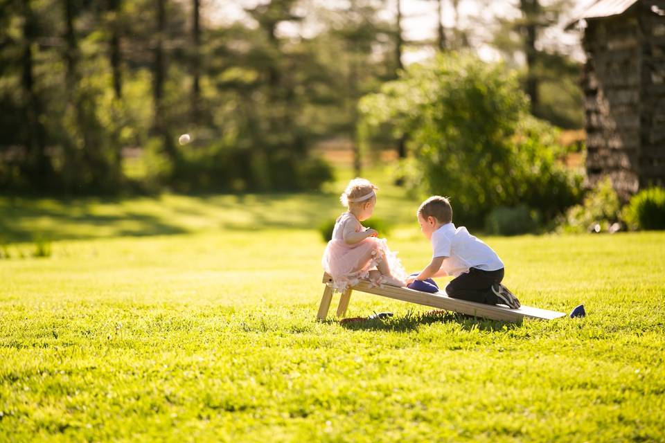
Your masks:
<path fill-rule="evenodd" d="M 332 287 L 338 291 L 360 279 L 375 285 L 405 285 L 404 267 L 388 248 L 386 239 L 377 238 L 376 230 L 360 224 L 374 212 L 377 190 L 365 179 L 353 179 L 339 198 L 348 210 L 335 221 L 332 239 L 321 260 L 323 269 L 332 276 Z"/>

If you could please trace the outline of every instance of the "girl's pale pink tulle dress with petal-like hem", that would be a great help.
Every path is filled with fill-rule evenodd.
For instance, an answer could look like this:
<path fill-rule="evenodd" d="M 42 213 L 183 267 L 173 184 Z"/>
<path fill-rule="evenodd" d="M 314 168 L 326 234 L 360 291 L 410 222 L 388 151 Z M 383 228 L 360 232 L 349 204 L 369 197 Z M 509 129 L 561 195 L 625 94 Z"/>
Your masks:
<path fill-rule="evenodd" d="M 376 286 L 387 282 L 385 275 L 378 280 L 370 280 L 369 271 L 376 269 L 382 260 L 387 260 L 393 278 L 402 282 L 407 279 L 407 273 L 397 257 L 387 245 L 386 239 L 367 237 L 356 244 L 344 242 L 344 229 L 346 224 L 353 224 L 355 232 L 365 230 L 360 221 L 351 213 L 344 213 L 337 218 L 335 229 L 332 230 L 332 239 L 323 251 L 321 264 L 323 269 L 332 277 L 332 287 L 337 291 L 345 291 L 349 286 L 357 284 L 361 279 L 369 280 Z M 371 251 L 370 254 L 368 252 Z M 369 256 L 369 259 L 367 258 Z"/>

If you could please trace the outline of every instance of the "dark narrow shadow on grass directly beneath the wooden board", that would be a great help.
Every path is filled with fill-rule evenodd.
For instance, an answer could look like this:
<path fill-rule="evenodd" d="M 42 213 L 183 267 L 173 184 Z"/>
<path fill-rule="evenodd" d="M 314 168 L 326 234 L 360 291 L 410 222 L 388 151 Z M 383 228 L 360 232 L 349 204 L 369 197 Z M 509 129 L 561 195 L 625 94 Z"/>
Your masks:
<path fill-rule="evenodd" d="M 503 332 L 515 329 L 522 325 L 520 323 L 505 323 L 497 320 L 487 320 L 465 314 L 457 314 L 449 311 L 430 311 L 423 314 L 414 314 L 409 312 L 402 317 L 388 317 L 376 319 L 364 319 L 357 321 L 348 321 L 340 323 L 342 327 L 350 330 L 371 330 L 387 332 L 410 332 L 418 331 L 420 326 L 431 325 L 432 323 L 459 323 L 462 329 L 488 332 Z"/>

